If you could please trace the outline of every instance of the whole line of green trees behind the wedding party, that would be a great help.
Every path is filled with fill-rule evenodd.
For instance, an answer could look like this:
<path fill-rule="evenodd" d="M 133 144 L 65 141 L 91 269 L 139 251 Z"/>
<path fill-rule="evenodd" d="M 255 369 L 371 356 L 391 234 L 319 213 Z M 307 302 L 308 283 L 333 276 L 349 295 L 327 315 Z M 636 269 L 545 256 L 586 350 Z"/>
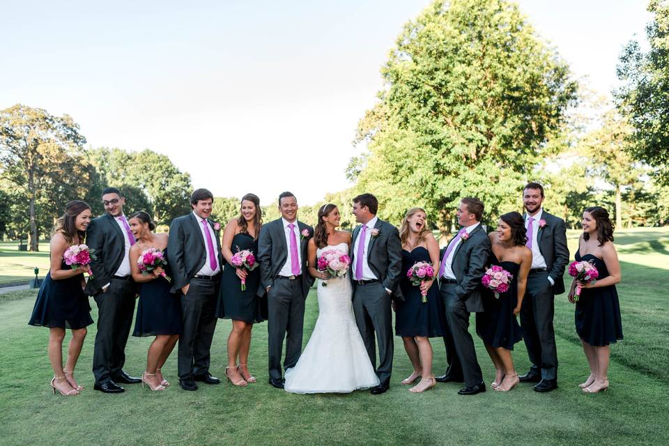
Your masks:
<path fill-rule="evenodd" d="M 516 3 L 433 1 L 403 26 L 381 70 L 384 88 L 354 140 L 365 149 L 346 171 L 353 187 L 302 206 L 300 220 L 315 223 L 318 208 L 332 202 L 350 229 L 351 199 L 373 192 L 390 222 L 422 206 L 447 238 L 461 197 L 481 197 L 494 224 L 522 208 L 523 185 L 537 180 L 546 209 L 571 228 L 594 203 L 613 211 L 617 227 L 667 224 L 667 3 L 649 2 L 649 50 L 634 41 L 623 49 L 612 102 L 571 79 Z M 27 235 L 36 250 L 64 202 L 84 197 L 102 213 L 107 185 L 159 225 L 190 210 L 190 175 L 168 157 L 85 143 L 70 116 L 23 105 L 0 112 L 0 233 Z M 224 223 L 238 208 L 237 198 L 217 198 L 213 214 Z M 269 221 L 279 212 L 274 205 L 263 214 Z"/>

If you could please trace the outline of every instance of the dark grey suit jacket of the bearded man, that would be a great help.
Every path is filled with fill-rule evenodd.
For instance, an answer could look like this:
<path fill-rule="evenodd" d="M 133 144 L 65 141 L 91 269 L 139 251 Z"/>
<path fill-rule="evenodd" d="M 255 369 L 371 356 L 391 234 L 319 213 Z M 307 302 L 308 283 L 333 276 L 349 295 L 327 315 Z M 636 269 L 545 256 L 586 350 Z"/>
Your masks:
<path fill-rule="evenodd" d="M 526 218 L 527 214 L 523 215 Z M 548 276 L 553 279 L 553 293 L 564 293 L 564 268 L 569 263 L 569 248 L 567 247 L 567 226 L 560 217 L 555 217 L 544 210 L 541 217 L 546 225 L 537 231 L 539 252 L 546 260 Z"/>

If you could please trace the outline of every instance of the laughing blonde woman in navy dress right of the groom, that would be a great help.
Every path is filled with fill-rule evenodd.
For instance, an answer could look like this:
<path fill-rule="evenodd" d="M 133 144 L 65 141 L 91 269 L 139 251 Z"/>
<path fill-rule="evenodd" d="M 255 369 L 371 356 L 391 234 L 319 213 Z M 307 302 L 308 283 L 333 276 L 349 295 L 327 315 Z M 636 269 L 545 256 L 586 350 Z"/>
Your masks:
<path fill-rule="evenodd" d="M 439 270 L 439 244 L 427 227 L 425 210 L 412 208 L 402 221 L 399 237 L 402 243 L 402 275 L 400 287 L 404 301 L 393 300 L 395 334 L 402 337 L 404 349 L 413 365 L 413 373 L 402 381 L 409 385 L 420 382 L 410 392 L 424 392 L 436 384 L 432 374 L 432 345 L 429 338 L 445 334 L 445 309 L 436 286 L 432 286 Z M 413 286 L 406 273 L 417 261 L 432 264 L 435 275 Z M 422 302 L 421 291 L 427 291 L 427 302 Z"/>

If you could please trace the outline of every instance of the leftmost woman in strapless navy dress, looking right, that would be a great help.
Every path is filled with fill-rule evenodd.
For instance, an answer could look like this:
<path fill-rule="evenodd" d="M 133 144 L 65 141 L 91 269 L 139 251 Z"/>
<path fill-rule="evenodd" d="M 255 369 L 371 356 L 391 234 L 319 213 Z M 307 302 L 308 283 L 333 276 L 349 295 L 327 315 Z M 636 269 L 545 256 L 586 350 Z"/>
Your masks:
<path fill-rule="evenodd" d="M 84 201 L 70 201 L 65 214 L 56 221 L 51 237 L 50 268 L 35 301 L 29 324 L 49 328 L 49 361 L 54 369 L 51 387 L 61 395 L 70 397 L 79 394 L 84 387 L 77 384 L 74 371 L 79 353 L 82 352 L 86 326 L 93 323 L 89 298 L 84 294 L 88 266 L 72 269 L 63 260 L 66 249 L 82 245 L 86 238 L 86 226 L 91 222 L 91 206 Z M 68 358 L 63 369 L 63 339 L 70 328 L 72 339 L 68 346 Z"/>

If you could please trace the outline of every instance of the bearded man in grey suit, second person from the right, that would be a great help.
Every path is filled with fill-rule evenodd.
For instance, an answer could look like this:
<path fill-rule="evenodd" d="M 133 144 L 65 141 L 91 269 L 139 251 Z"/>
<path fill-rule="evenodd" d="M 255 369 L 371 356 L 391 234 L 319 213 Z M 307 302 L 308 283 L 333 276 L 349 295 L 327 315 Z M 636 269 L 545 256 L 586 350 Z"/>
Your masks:
<path fill-rule="evenodd" d="M 521 325 L 525 346 L 532 367 L 518 378 L 522 382 L 537 383 L 537 392 L 551 392 L 557 388 L 557 351 L 553 314 L 555 295 L 564 293 L 564 267 L 569 263 L 567 229 L 564 220 L 541 208 L 544 187 L 529 183 L 523 189 L 525 228 L 528 230 L 528 248 L 532 249 L 532 266 L 528 275 L 527 291 L 521 307 Z"/>

